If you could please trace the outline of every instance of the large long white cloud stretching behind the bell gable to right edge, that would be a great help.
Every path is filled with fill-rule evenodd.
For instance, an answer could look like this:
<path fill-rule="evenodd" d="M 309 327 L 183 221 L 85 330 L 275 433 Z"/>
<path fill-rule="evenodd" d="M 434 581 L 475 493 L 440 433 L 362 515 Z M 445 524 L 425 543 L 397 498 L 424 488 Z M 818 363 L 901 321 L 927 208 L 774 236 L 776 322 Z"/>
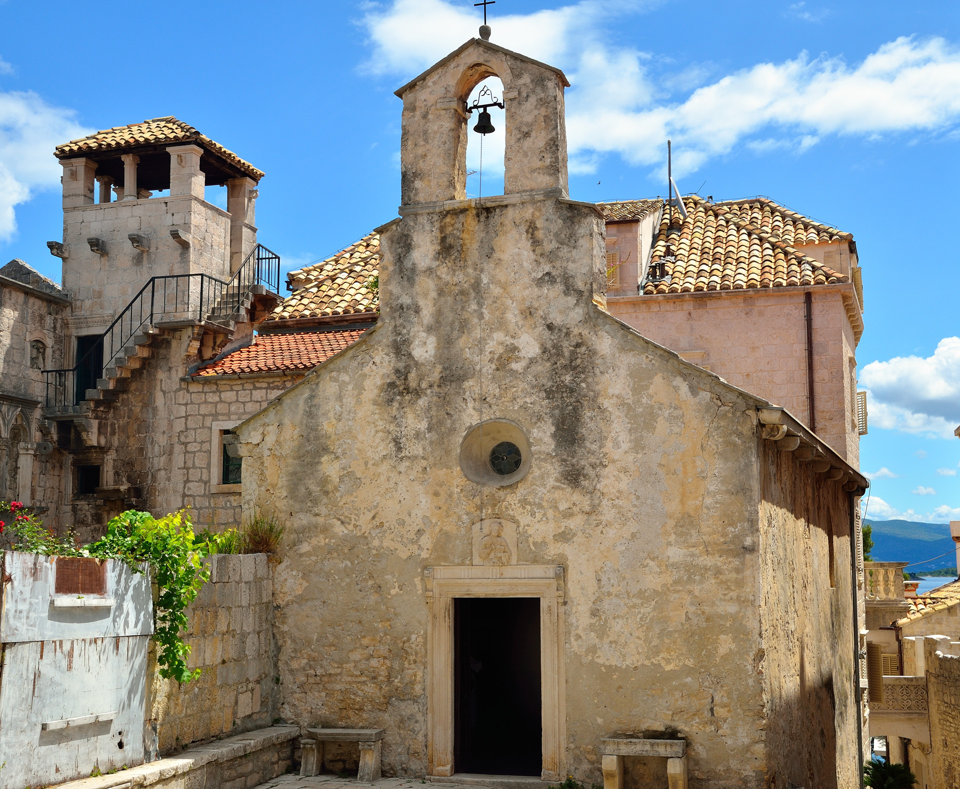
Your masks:
<path fill-rule="evenodd" d="M 663 58 L 610 43 L 607 26 L 616 14 L 650 5 L 614 10 L 584 0 L 491 21 L 492 41 L 566 72 L 571 172 L 589 172 L 608 154 L 658 166 L 667 137 L 674 140 L 675 172 L 683 176 L 756 135 L 761 146 L 773 140 L 802 152 L 827 134 L 941 131 L 960 119 L 960 50 L 943 38 L 900 37 L 853 65 L 800 53 L 712 84 L 704 84 L 707 70 L 694 69 L 693 85 L 700 86 L 687 93 L 689 80 L 654 73 Z M 793 11 L 814 13 L 799 3 Z M 394 0 L 362 20 L 372 43 L 364 67 L 410 79 L 475 36 L 477 23 L 471 9 L 444 0 Z"/>

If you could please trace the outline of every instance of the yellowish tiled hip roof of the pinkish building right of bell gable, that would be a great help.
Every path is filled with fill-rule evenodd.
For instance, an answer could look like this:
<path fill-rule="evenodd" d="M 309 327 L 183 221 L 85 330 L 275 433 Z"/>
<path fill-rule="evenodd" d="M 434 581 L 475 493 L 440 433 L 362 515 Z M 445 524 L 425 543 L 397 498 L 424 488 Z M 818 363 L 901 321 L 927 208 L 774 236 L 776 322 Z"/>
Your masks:
<path fill-rule="evenodd" d="M 794 246 L 847 241 L 850 233 L 765 198 L 708 203 L 691 195 L 684 197 L 684 205 L 686 219 L 677 209 L 672 221 L 671 212 L 663 212 L 650 261 L 664 257 L 668 238 L 675 260 L 666 261 L 665 278 L 646 281 L 643 293 L 648 296 L 850 281 Z"/>

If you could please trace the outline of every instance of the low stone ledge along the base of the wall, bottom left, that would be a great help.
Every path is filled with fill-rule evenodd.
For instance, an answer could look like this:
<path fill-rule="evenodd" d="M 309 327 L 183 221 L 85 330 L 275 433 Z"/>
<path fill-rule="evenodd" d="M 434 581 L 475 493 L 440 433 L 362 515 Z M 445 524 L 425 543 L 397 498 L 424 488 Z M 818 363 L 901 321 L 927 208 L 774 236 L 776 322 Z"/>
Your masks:
<path fill-rule="evenodd" d="M 59 789 L 124 789 L 133 786 L 150 786 L 160 780 L 197 770 L 212 762 L 227 762 L 247 753 L 262 751 L 300 736 L 300 727 L 271 726 L 266 729 L 235 734 L 222 740 L 190 748 L 180 755 L 171 756 L 129 770 L 121 770 L 111 776 L 79 778 L 57 784 Z"/>

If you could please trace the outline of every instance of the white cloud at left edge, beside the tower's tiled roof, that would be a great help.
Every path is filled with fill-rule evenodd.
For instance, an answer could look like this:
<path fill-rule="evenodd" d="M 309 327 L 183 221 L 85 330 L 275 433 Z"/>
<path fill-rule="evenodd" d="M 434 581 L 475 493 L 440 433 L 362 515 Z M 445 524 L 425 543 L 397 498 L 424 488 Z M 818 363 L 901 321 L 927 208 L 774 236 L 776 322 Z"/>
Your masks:
<path fill-rule="evenodd" d="M 36 93 L 0 92 L 0 241 L 16 230 L 16 205 L 36 191 L 60 185 L 62 168 L 54 147 L 91 131 L 75 115 Z"/>

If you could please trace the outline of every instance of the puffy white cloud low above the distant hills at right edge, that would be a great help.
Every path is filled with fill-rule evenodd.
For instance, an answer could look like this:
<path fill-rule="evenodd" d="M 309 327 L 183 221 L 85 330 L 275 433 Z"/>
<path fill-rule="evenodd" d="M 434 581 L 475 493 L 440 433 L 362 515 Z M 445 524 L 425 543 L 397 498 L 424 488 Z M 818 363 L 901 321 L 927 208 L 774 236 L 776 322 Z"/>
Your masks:
<path fill-rule="evenodd" d="M 897 356 L 860 371 L 872 424 L 904 433 L 953 438 L 960 422 L 960 337 L 940 341 L 932 356 Z"/>

